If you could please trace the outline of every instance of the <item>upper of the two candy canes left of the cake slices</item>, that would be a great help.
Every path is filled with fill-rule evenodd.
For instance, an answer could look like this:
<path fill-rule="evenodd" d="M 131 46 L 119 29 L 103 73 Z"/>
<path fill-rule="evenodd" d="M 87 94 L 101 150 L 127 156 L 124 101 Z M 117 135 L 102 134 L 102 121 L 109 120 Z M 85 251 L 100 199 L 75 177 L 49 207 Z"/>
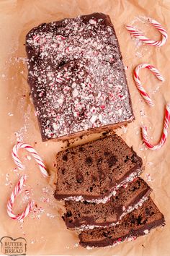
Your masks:
<path fill-rule="evenodd" d="M 14 148 L 12 150 L 12 158 L 14 159 L 14 163 L 16 163 L 18 168 L 24 169 L 24 166 L 23 166 L 22 162 L 19 160 L 19 156 L 18 156 L 18 150 L 21 148 L 27 150 L 33 156 L 33 158 L 35 158 L 35 161 L 37 162 L 42 175 L 45 177 L 48 177 L 47 169 L 45 168 L 45 164 L 43 163 L 40 155 L 38 155 L 37 151 L 34 148 L 32 148 L 32 146 L 30 146 L 24 142 L 17 143 L 16 145 L 14 145 Z"/>

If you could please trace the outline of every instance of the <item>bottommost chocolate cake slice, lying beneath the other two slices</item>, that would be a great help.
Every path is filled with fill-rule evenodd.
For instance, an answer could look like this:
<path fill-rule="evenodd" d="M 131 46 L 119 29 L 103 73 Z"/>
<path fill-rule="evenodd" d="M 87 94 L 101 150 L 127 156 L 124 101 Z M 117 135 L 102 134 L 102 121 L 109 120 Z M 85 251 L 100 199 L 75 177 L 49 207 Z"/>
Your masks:
<path fill-rule="evenodd" d="M 80 244 L 83 247 L 115 246 L 148 234 L 151 229 L 163 226 L 164 222 L 163 214 L 150 197 L 140 208 L 124 216 L 116 226 L 82 231 L 79 234 Z"/>

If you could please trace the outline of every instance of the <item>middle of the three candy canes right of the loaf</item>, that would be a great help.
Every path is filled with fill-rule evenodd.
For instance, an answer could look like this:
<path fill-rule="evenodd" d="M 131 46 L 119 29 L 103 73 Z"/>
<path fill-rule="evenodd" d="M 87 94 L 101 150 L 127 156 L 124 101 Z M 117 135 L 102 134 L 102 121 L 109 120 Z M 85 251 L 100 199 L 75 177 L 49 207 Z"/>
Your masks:
<path fill-rule="evenodd" d="M 133 72 L 133 78 L 135 80 L 135 85 L 137 86 L 137 88 L 140 92 L 140 95 L 143 96 L 144 100 L 146 101 L 146 103 L 148 103 L 149 106 L 154 106 L 153 101 L 151 100 L 148 93 L 146 93 L 146 90 L 143 88 L 143 85 L 140 82 L 139 71 L 140 71 L 140 69 L 144 69 L 144 68 L 151 70 L 151 72 L 153 72 L 153 74 L 155 74 L 155 76 L 160 81 L 164 81 L 164 77 L 162 77 L 162 75 L 158 72 L 158 69 L 156 69 L 152 65 L 146 64 L 146 63 L 139 64 Z"/>

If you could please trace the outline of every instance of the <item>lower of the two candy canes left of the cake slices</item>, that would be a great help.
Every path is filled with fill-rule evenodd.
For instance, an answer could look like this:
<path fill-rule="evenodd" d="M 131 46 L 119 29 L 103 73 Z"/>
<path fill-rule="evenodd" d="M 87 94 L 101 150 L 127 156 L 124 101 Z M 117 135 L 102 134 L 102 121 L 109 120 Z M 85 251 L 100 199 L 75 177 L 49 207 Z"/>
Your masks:
<path fill-rule="evenodd" d="M 23 213 L 20 213 L 18 215 L 15 215 L 13 213 L 13 205 L 14 205 L 14 200 L 17 197 L 17 195 L 19 194 L 20 190 L 22 189 L 22 186 L 25 182 L 25 180 L 27 179 L 27 176 L 24 174 L 21 176 L 21 178 L 19 179 L 19 181 L 17 182 L 16 186 L 14 187 L 14 190 L 12 191 L 12 195 L 9 198 L 9 201 L 7 202 L 7 213 L 9 215 L 9 217 L 11 217 L 13 220 L 17 220 L 20 221 L 23 218 L 27 217 L 27 215 L 30 213 L 30 211 L 32 210 L 32 208 L 35 205 L 35 201 L 31 200 L 27 207 L 24 209 Z"/>

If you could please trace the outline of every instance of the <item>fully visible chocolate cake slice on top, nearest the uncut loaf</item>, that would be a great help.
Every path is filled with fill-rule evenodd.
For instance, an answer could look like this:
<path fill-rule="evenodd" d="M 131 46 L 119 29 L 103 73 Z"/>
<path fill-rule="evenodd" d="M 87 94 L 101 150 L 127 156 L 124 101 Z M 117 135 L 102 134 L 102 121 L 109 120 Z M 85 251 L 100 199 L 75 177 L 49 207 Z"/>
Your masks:
<path fill-rule="evenodd" d="M 107 202 L 142 171 L 142 159 L 116 134 L 58 153 L 58 200 Z"/>

